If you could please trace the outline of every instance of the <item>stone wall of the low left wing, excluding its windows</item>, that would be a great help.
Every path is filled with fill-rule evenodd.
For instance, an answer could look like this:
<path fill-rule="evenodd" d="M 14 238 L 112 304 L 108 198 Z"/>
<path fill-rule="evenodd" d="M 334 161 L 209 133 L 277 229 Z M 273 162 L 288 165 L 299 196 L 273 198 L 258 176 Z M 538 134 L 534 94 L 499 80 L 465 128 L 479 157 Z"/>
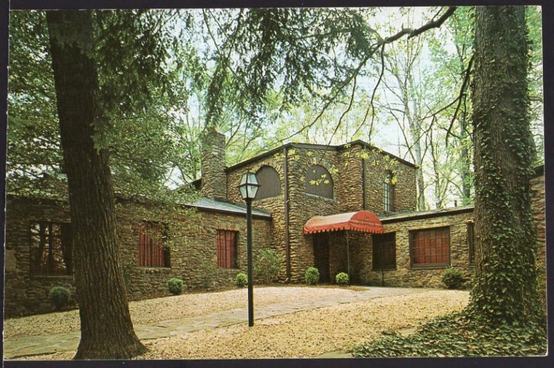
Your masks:
<path fill-rule="evenodd" d="M 204 283 L 203 263 L 211 263 L 217 277 L 216 286 L 231 286 L 235 275 L 247 272 L 246 219 L 235 214 L 195 211 L 186 216 L 180 243 L 170 249 L 170 268 L 139 267 L 139 223 L 133 213 L 143 205 L 117 205 L 117 231 L 120 263 L 129 299 L 148 299 L 169 295 L 167 281 L 172 277 L 184 280 L 186 290 Z M 148 211 L 147 211 L 148 212 Z M 30 222 L 33 220 L 70 222 L 66 204 L 49 200 L 10 198 L 6 206 L 6 274 L 5 312 L 7 317 L 51 312 L 48 290 L 65 286 L 71 291 L 76 306 L 73 276 L 51 277 L 29 275 Z M 142 220 L 164 222 L 164 218 L 146 216 Z M 217 229 L 238 231 L 238 269 L 217 268 L 215 234 Z M 253 250 L 271 246 L 271 220 L 253 218 Z"/>

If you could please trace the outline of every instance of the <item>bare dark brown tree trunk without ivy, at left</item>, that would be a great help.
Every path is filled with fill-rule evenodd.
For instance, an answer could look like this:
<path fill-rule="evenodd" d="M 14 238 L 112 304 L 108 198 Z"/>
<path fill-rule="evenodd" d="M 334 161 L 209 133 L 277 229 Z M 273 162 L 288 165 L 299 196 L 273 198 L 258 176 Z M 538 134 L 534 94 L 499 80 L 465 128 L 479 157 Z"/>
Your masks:
<path fill-rule="evenodd" d="M 118 260 L 114 193 L 102 131 L 90 11 L 47 12 L 73 225 L 81 340 L 75 359 L 126 359 L 145 351 L 136 337 Z"/>

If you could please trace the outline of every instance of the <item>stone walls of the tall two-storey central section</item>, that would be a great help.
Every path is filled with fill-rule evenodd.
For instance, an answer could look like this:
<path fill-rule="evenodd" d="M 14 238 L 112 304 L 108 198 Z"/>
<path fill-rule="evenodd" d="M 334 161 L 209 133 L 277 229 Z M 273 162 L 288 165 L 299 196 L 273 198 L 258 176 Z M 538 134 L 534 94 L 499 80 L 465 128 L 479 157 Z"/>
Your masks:
<path fill-rule="evenodd" d="M 330 174 L 333 185 L 332 198 L 306 193 L 307 170 L 313 165 L 323 166 Z M 271 166 L 280 177 L 280 195 L 255 201 L 254 205 L 271 211 L 273 216 L 272 247 L 280 252 L 284 260 L 280 273 L 281 281 L 301 282 L 305 270 L 314 265 L 313 237 L 303 235 L 303 226 L 307 220 L 313 216 L 328 216 L 361 209 L 375 213 L 384 211 L 382 198 L 388 170 L 391 170 L 396 178 L 395 209 L 415 210 L 415 166 L 361 141 L 343 146 L 289 143 L 231 166 L 226 169 L 227 198 L 235 202 L 241 200 L 236 187 L 242 173 L 247 168 L 256 172 L 262 166 Z M 330 184 L 322 182 L 319 185 Z M 285 200 L 285 196 L 288 196 L 288 201 Z M 339 254 L 334 247 L 330 249 L 333 254 Z"/>

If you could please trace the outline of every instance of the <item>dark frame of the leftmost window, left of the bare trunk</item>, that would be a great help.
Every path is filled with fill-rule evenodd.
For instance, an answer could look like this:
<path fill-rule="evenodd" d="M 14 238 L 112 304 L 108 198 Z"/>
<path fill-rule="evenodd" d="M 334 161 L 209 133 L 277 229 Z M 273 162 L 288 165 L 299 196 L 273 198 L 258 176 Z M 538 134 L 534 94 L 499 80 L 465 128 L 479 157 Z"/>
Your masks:
<path fill-rule="evenodd" d="M 39 226 L 39 243 L 42 242 L 42 235 L 41 235 L 41 231 L 40 231 L 40 227 L 42 227 L 42 225 L 45 225 L 46 227 L 46 231 L 44 231 L 45 233 L 48 232 L 47 235 L 44 236 L 44 241 L 45 241 L 45 245 L 48 247 L 48 248 L 51 248 L 53 247 L 53 236 L 52 236 L 52 227 L 53 225 L 57 225 L 60 227 L 60 234 L 58 234 L 58 239 L 59 239 L 59 244 L 60 244 L 60 253 L 61 253 L 61 256 L 62 256 L 62 265 L 63 265 L 63 269 L 65 270 L 65 272 L 63 274 L 60 274 L 60 273 L 51 273 L 51 270 L 52 270 L 52 265 L 48 265 L 48 263 L 50 263 L 51 261 L 54 261 L 53 259 L 53 256 L 48 256 L 48 258 L 46 259 L 46 263 L 44 265 L 44 268 L 46 269 L 46 272 L 44 273 L 41 273 L 41 272 L 37 272 L 36 270 L 37 269 L 41 269 L 42 267 L 38 267 L 35 265 L 35 263 L 33 262 L 33 254 L 36 253 L 34 250 L 33 250 L 33 227 L 35 225 L 38 225 Z M 69 234 L 65 234 L 64 235 L 64 230 L 63 229 L 66 229 L 66 230 L 69 230 Z M 33 277 L 33 278 L 36 278 L 36 277 L 73 277 L 73 271 L 75 270 L 74 267 L 73 267 L 73 239 L 72 239 L 72 234 L 71 232 L 73 231 L 73 228 L 71 226 L 71 222 L 68 222 L 68 221 L 52 221 L 52 220 L 31 220 L 29 223 L 28 223 L 28 231 L 29 231 L 29 238 L 28 238 L 28 249 L 29 249 L 29 254 L 28 254 L 28 267 L 29 267 L 29 276 L 30 277 Z M 64 251 L 66 250 L 66 248 L 64 247 L 64 239 L 66 241 L 69 241 L 69 263 L 67 262 L 68 260 L 66 259 L 66 257 L 64 256 Z M 68 245 L 66 243 L 66 245 Z M 39 245 L 39 248 L 40 249 L 40 245 Z M 44 248 L 43 248 L 44 249 Z M 43 250 L 43 253 L 44 253 L 44 250 Z M 51 252 L 51 254 L 53 254 L 53 252 Z"/>

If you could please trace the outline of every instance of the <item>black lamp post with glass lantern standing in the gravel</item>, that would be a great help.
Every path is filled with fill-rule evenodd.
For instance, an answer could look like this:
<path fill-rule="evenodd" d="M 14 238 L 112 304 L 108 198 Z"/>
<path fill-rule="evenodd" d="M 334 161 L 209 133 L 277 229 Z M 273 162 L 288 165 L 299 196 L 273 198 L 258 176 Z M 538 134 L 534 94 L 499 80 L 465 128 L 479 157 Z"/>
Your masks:
<path fill-rule="evenodd" d="M 238 189 L 242 199 L 247 202 L 247 254 L 248 254 L 248 326 L 254 325 L 254 301 L 252 286 L 252 200 L 258 192 L 258 180 L 256 174 L 247 170 L 240 178 Z"/>

